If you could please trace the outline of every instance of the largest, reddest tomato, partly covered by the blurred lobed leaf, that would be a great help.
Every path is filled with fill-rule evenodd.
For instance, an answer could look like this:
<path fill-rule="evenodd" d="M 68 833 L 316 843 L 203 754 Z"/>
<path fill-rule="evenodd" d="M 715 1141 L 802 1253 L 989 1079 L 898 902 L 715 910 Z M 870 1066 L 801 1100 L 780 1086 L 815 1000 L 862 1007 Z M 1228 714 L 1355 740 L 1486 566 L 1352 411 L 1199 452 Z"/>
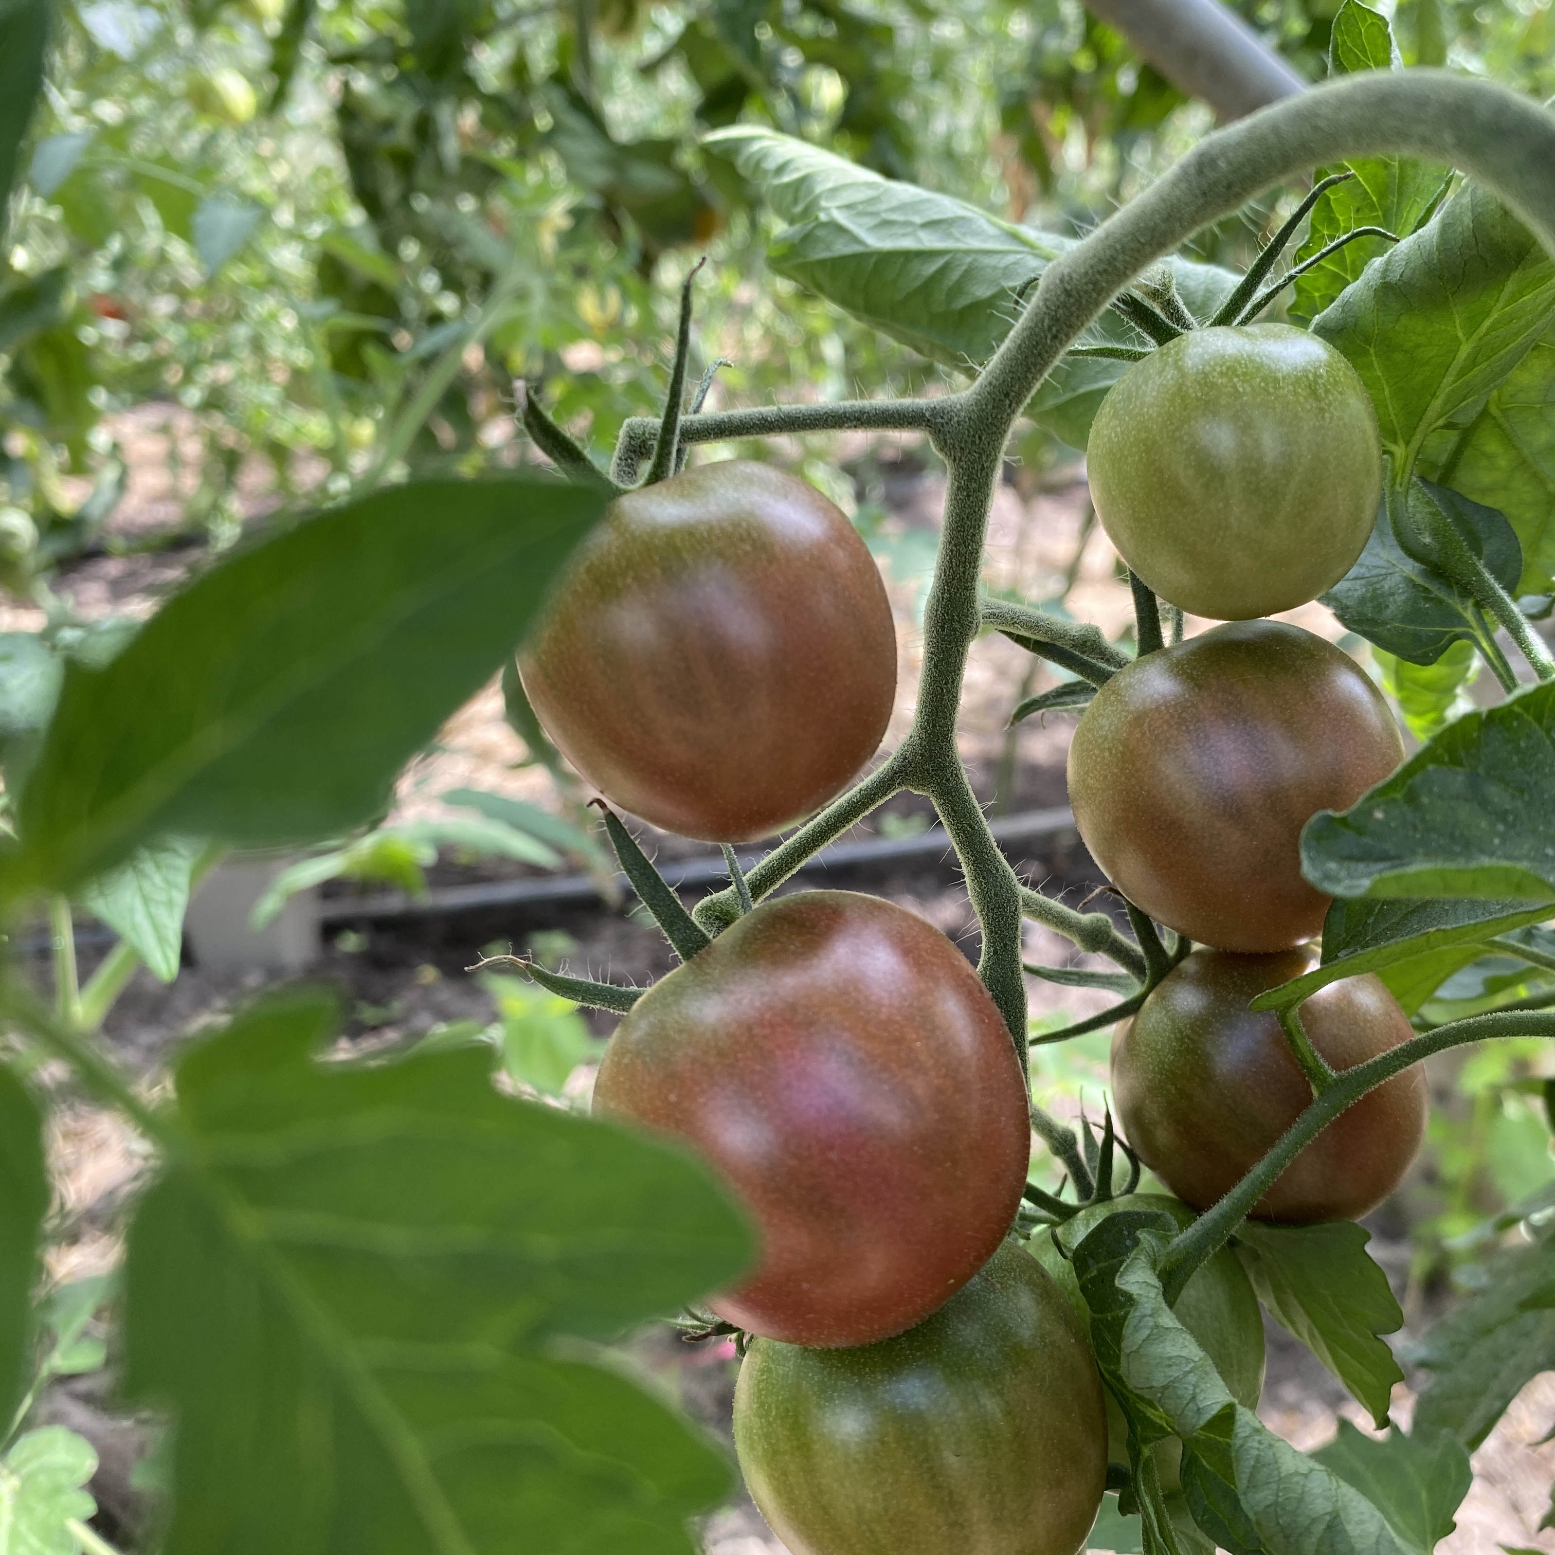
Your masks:
<path fill-rule="evenodd" d="M 941 1306 L 1015 1218 L 1025 1084 L 987 991 L 893 902 L 764 902 L 638 1000 L 596 1112 L 689 1140 L 760 1260 L 708 1305 L 801 1345 L 861 1345 Z"/>

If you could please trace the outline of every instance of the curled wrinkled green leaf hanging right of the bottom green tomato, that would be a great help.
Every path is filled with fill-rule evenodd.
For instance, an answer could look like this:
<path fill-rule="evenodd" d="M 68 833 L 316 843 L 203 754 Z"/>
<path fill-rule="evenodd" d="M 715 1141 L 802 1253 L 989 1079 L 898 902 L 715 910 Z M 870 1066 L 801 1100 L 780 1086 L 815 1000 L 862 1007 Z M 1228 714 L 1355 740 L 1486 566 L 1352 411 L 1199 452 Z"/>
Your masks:
<path fill-rule="evenodd" d="M 1169 1230 L 1165 1216 L 1124 1210 L 1075 1249 L 1096 1364 L 1129 1421 L 1130 1443 L 1182 1437 L 1193 1518 L 1233 1555 L 1406 1555 L 1410 1546 L 1378 1507 L 1227 1392 L 1162 1295 Z"/>

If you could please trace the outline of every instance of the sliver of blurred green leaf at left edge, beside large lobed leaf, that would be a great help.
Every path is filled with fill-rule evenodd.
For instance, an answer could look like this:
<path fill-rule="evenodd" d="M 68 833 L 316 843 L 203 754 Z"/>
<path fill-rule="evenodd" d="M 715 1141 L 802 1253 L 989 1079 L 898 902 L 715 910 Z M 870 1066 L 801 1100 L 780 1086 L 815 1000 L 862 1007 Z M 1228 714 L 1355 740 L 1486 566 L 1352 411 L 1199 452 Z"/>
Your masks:
<path fill-rule="evenodd" d="M 47 1213 L 44 1120 L 22 1081 L 0 1064 L 0 1421 L 6 1424 L 23 1389 Z"/>

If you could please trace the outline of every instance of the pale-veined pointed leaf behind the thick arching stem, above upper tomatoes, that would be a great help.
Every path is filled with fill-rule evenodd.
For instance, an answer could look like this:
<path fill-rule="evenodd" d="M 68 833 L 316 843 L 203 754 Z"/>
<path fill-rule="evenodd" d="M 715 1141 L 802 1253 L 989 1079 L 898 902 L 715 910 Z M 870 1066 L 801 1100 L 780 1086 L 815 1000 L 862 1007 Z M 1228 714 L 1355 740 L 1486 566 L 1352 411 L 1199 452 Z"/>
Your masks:
<path fill-rule="evenodd" d="M 1071 238 L 1000 221 L 949 194 L 883 179 L 807 142 L 753 126 L 703 142 L 760 187 L 788 229 L 768 264 L 855 319 L 933 361 L 967 370 L 992 356 L 1019 299 Z M 1208 317 L 1238 277 L 1213 264 L 1171 260 L 1177 292 Z M 1099 319 L 1087 344 L 1138 344 L 1120 320 Z M 1075 448 L 1127 362 L 1067 358 L 1048 375 L 1028 414 Z"/>

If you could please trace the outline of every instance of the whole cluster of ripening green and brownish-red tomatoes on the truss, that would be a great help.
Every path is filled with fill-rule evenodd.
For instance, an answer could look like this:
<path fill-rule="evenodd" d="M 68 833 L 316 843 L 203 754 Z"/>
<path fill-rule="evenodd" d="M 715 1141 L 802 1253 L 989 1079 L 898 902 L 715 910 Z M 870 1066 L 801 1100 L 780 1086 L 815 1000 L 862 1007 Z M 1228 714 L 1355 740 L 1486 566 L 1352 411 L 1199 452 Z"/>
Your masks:
<path fill-rule="evenodd" d="M 1305 471 L 1289 459 L 1267 471 L 1277 527 L 1253 571 L 1239 561 L 1235 502 L 1207 507 L 1188 476 L 1171 474 L 1194 456 L 1182 415 L 1172 426 L 1169 375 L 1194 387 L 1194 420 L 1208 425 L 1194 355 L 1207 350 L 1266 372 L 1266 415 L 1294 407 L 1311 425 L 1314 403 L 1333 407 L 1334 381 L 1348 397 L 1312 428 L 1337 471 L 1317 482 L 1326 505 L 1291 496 Z M 1218 378 L 1246 473 L 1267 448 L 1249 428 L 1244 386 Z M 1199 451 L 1200 484 L 1202 460 L 1224 462 L 1224 445 Z M 1365 393 L 1298 331 L 1204 330 L 1163 347 L 1109 397 L 1090 453 L 1098 512 L 1135 572 L 1222 617 L 1288 608 L 1333 583 L 1378 499 Z M 1258 512 L 1267 518 L 1270 502 Z M 1300 568 L 1278 560 L 1280 546 Z M 1179 588 L 1179 577 L 1208 586 Z M 734 843 L 802 818 L 871 757 L 894 701 L 896 636 L 844 515 L 781 471 L 729 462 L 611 504 L 521 672 L 547 732 L 608 798 Z M 1185 1200 L 1146 1202 L 1183 1222 L 1309 1096 L 1274 1017 L 1247 1001 L 1306 967 L 1300 945 L 1322 925 L 1323 899 L 1298 869 L 1302 824 L 1353 802 L 1400 756 L 1370 681 L 1322 639 L 1269 622 L 1137 659 L 1081 720 L 1070 785 L 1092 852 L 1132 902 L 1218 947 L 1182 959 L 1115 1047 L 1129 1138 Z M 1407 1034 L 1372 978 L 1325 989 L 1305 1019 L 1336 1068 Z M 709 1305 L 750 1336 L 736 1446 L 795 1555 L 1073 1555 L 1084 1544 L 1112 1406 L 1064 1253 L 1130 1200 L 1087 1207 L 1029 1249 L 1011 1239 L 1031 1148 L 1025 1081 L 1000 1012 L 949 939 L 869 896 L 764 902 L 638 1000 L 594 1107 L 689 1141 L 754 1221 L 756 1267 Z M 1421 1107 L 1418 1078 L 1373 1092 L 1260 1213 L 1370 1208 L 1413 1154 Z M 1258 1309 L 1230 1252 L 1194 1275 L 1177 1311 L 1233 1393 L 1256 1401 Z M 1115 1459 L 1121 1429 L 1113 1412 Z M 1158 1463 L 1169 1483 L 1176 1463 L 1163 1452 Z"/>

